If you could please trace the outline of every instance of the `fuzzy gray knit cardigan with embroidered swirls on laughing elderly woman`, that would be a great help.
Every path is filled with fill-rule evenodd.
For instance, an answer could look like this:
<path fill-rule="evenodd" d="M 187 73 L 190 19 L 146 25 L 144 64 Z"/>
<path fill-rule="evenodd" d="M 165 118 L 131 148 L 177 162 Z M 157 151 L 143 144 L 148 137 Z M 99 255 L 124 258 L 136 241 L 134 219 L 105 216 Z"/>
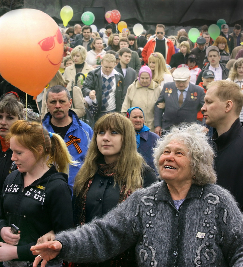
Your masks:
<path fill-rule="evenodd" d="M 139 266 L 243 266 L 243 215 L 218 185 L 192 185 L 177 211 L 165 182 L 140 189 L 101 219 L 59 233 L 60 257 L 100 262 L 136 245 Z"/>

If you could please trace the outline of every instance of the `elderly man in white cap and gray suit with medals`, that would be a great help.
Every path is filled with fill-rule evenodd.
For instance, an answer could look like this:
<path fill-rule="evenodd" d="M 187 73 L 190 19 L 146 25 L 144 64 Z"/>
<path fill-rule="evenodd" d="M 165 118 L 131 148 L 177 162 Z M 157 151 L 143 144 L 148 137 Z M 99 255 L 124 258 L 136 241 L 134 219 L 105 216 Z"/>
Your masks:
<path fill-rule="evenodd" d="M 174 82 L 167 82 L 154 105 L 155 134 L 161 136 L 162 129 L 168 130 L 182 122 L 196 122 L 197 113 L 204 104 L 204 90 L 190 82 L 190 70 L 175 69 Z"/>

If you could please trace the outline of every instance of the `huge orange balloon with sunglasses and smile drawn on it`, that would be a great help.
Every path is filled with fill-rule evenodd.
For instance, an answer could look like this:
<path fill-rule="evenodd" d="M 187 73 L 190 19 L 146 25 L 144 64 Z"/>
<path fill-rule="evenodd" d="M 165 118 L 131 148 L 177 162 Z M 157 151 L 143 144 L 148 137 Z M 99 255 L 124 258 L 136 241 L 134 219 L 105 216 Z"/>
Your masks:
<path fill-rule="evenodd" d="M 0 18 L 0 74 L 20 90 L 37 96 L 59 70 L 63 56 L 61 31 L 37 9 L 16 9 Z"/>

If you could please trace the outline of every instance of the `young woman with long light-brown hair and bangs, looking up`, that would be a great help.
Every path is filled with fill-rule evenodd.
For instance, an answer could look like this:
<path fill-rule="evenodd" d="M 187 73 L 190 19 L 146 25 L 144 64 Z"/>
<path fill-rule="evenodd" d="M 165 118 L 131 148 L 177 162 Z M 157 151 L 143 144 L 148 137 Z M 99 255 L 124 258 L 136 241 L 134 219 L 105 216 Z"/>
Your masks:
<path fill-rule="evenodd" d="M 137 152 L 134 128 L 119 113 L 108 113 L 94 125 L 94 135 L 74 183 L 75 225 L 101 217 L 140 187 L 158 181 Z M 135 249 L 95 266 L 136 266 Z M 73 266 L 89 266 L 74 264 Z"/>

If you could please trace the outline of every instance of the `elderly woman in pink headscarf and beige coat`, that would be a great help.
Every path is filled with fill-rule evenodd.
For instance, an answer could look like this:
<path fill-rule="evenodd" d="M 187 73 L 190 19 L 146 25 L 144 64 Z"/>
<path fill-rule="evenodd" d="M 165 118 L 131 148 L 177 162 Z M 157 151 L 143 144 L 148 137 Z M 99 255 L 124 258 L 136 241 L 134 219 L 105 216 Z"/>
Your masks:
<path fill-rule="evenodd" d="M 154 132 L 154 104 L 160 96 L 162 88 L 152 80 L 152 72 L 148 66 L 143 66 L 135 80 L 128 88 L 121 112 L 126 115 L 130 107 L 140 107 L 145 115 L 144 124 Z"/>

